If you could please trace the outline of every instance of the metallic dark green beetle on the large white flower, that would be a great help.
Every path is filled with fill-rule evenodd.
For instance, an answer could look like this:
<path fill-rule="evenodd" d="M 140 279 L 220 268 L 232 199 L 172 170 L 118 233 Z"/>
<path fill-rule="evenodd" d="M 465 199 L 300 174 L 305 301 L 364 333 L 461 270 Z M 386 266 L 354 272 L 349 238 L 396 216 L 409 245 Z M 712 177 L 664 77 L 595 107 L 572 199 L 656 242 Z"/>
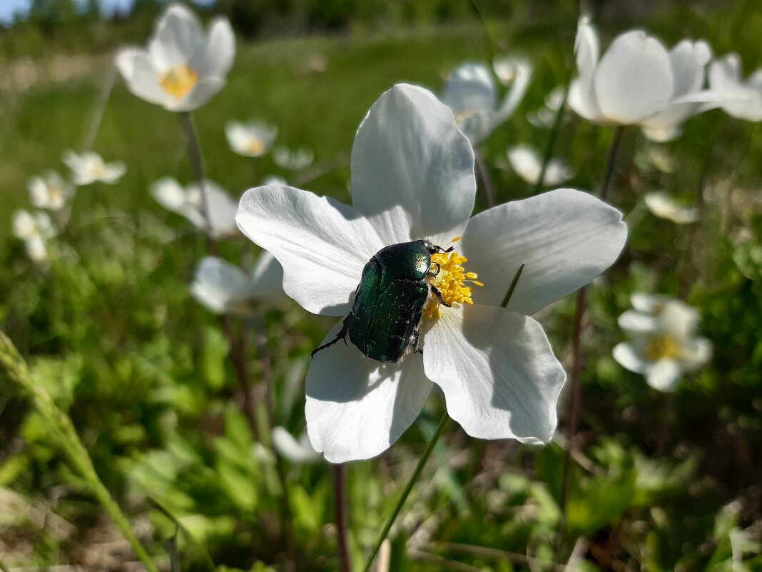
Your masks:
<path fill-rule="evenodd" d="M 386 246 L 376 252 L 363 268 L 360 284 L 354 291 L 354 303 L 341 332 L 321 349 L 340 339 L 357 345 L 368 358 L 378 362 L 399 362 L 408 349 L 420 353 L 421 315 L 430 295 L 446 304 L 440 291 L 427 278 L 431 272 L 431 255 L 450 252 L 428 240 L 414 240 Z"/>

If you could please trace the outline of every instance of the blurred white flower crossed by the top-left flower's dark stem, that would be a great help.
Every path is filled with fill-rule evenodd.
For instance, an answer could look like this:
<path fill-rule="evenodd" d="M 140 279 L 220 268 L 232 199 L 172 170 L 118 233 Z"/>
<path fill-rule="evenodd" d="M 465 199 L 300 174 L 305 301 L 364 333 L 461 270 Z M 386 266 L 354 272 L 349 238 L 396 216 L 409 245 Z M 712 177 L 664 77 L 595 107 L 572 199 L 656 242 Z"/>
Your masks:
<path fill-rule="evenodd" d="M 151 185 L 151 196 L 158 204 L 190 220 L 195 227 L 206 230 L 215 239 L 239 236 L 235 225 L 235 213 L 238 203 L 230 194 L 207 179 L 204 181 L 206 205 L 201 188 L 197 183 L 183 187 L 176 179 L 165 177 Z M 208 214 L 204 214 L 204 207 Z"/>

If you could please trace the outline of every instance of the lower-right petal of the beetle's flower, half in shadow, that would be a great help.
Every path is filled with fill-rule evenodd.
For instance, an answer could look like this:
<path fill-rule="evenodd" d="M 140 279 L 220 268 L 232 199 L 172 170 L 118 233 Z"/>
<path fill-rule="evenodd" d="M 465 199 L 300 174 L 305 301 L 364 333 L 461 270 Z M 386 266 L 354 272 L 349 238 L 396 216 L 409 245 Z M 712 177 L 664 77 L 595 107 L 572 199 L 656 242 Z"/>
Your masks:
<path fill-rule="evenodd" d="M 427 377 L 469 435 L 549 442 L 566 374 L 535 320 L 482 304 L 448 308 L 423 351 Z"/>

